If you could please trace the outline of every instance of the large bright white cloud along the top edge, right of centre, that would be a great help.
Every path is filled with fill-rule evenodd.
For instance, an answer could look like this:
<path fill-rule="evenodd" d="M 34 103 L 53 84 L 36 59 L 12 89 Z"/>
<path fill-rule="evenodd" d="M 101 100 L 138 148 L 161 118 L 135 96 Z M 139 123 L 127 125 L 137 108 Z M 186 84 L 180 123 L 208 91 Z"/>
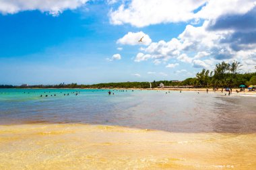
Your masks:
<path fill-rule="evenodd" d="M 110 11 L 110 22 L 136 27 L 189 20 L 198 22 L 199 19 L 247 13 L 253 7 L 254 0 L 131 0 L 129 3 L 123 1 L 118 9 Z M 194 13 L 196 9 L 199 11 Z"/>

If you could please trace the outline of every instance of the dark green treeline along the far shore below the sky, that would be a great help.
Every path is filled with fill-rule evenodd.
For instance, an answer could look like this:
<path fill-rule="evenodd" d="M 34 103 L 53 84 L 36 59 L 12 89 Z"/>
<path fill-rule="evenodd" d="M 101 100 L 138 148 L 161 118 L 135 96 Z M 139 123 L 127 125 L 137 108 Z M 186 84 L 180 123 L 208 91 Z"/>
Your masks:
<path fill-rule="evenodd" d="M 121 82 L 98 83 L 94 85 L 77 85 L 77 83 L 59 85 L 0 85 L 0 88 L 139 88 L 148 89 L 159 87 L 162 83 L 165 87 L 193 87 L 193 88 L 238 88 L 240 85 L 256 85 L 256 72 L 240 73 L 239 62 L 221 62 L 213 71 L 203 69 L 195 77 L 184 81 L 152 81 L 152 82 Z M 256 67 L 255 67 L 256 69 Z"/>

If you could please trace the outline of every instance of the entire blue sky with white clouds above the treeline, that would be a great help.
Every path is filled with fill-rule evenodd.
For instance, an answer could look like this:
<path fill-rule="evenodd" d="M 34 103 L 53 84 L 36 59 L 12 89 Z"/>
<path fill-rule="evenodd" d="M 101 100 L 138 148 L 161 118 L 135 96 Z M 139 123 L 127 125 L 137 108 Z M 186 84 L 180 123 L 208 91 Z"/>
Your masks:
<path fill-rule="evenodd" d="M 234 60 L 255 72 L 256 1 L 0 0 L 0 84 L 183 80 Z"/>

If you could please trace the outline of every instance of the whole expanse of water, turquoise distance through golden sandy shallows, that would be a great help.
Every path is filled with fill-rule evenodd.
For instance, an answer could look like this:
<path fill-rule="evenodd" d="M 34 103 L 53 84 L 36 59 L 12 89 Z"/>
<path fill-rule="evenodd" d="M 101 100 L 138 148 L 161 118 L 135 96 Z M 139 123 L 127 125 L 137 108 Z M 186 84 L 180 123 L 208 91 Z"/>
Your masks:
<path fill-rule="evenodd" d="M 0 169 L 256 169 L 256 97 L 114 92 L 0 89 Z"/>

